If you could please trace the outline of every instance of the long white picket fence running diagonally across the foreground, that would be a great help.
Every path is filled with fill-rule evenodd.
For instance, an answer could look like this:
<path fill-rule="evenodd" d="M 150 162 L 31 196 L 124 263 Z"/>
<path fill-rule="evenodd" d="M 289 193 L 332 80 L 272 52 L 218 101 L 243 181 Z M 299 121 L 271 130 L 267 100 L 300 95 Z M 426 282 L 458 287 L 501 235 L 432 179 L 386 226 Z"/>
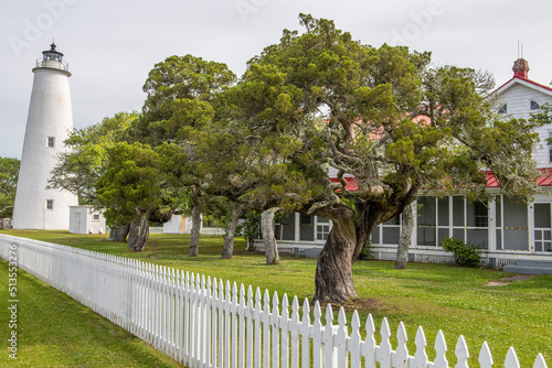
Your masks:
<path fill-rule="evenodd" d="M 410 355 L 403 323 L 396 332 L 396 348 L 384 318 L 381 342 L 374 338 L 370 315 L 365 338 L 354 311 L 347 324 L 339 309 L 337 324 L 328 304 L 322 323 L 320 304 L 314 306 L 310 320 L 308 300 L 299 310 L 295 296 L 289 305 L 268 291 L 245 292 L 244 285 L 189 274 L 123 257 L 0 235 L 0 256 L 8 258 L 10 246 L 17 246 L 19 267 L 63 291 L 98 314 L 113 321 L 157 349 L 189 367 L 448 367 L 447 344 L 438 332 L 435 359 L 428 361 L 427 343 L 418 327 L 416 351 Z M 350 331 L 350 333 L 349 333 Z M 455 349 L 457 368 L 468 367 L 468 347 L 463 336 Z M 493 366 L 487 343 L 478 358 L 481 368 Z M 499 366 L 502 366 L 499 364 Z M 513 347 L 503 367 L 520 367 Z M 546 368 L 541 354 L 533 368 Z"/>

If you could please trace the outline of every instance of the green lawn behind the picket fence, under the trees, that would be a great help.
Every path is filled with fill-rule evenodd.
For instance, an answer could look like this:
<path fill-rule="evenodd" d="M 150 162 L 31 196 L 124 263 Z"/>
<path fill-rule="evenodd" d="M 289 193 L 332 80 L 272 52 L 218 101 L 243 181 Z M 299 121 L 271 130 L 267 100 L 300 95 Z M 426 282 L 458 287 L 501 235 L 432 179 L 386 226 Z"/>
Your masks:
<path fill-rule="evenodd" d="M 142 261 L 199 272 L 212 278 L 244 283 L 254 288 L 304 297 L 314 295 L 315 259 L 282 257 L 279 266 L 266 266 L 264 256 L 244 250 L 236 241 L 231 260 L 220 258 L 222 237 L 202 236 L 200 257 L 188 257 L 189 236 L 151 235 L 144 252 L 129 251 L 126 243 L 102 241 L 105 236 L 75 236 L 53 231 L 15 231 L 23 236 L 70 245 L 100 252 L 136 258 Z M 448 345 L 450 366 L 456 364 L 454 350 L 459 335 L 470 348 L 471 366 L 478 366 L 481 344 L 487 340 L 496 366 L 503 364 L 510 346 L 514 346 L 522 367 L 532 367 L 538 353 L 552 364 L 552 277 L 533 277 L 503 286 L 488 286 L 490 281 L 510 273 L 490 269 L 463 269 L 450 264 L 408 263 L 395 270 L 389 261 L 358 261 L 353 267 L 359 299 L 347 306 L 359 310 L 361 320 L 369 313 L 376 329 L 388 317 L 395 336 L 403 321 L 408 334 L 408 349 L 415 351 L 414 337 L 422 325 L 427 338 L 429 360 L 435 357 L 435 336 L 443 329 Z M 92 313 L 92 312 L 89 312 Z M 93 314 L 93 313 L 92 313 Z M 335 313 L 337 320 L 337 313 Z M 83 337 L 94 339 L 94 336 Z M 396 340 L 392 337 L 393 347 Z M 124 345 L 126 342 L 121 339 Z M 378 344 L 380 343 L 376 337 Z M 26 347 L 25 347 L 26 348 Z M 34 347 L 30 346 L 30 349 Z"/>

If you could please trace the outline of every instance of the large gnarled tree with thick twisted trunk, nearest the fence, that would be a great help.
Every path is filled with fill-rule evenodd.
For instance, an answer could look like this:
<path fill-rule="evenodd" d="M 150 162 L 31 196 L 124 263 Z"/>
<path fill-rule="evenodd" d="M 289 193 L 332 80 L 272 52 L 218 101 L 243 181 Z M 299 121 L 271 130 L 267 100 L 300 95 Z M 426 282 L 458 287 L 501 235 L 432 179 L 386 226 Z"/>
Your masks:
<path fill-rule="evenodd" d="M 535 188 L 530 152 L 539 122 L 497 119 L 477 73 L 432 67 L 428 53 L 406 47 L 363 45 L 329 20 L 300 21 L 302 34 L 286 30 L 250 61 L 235 108 L 250 140 L 285 137 L 293 145 L 279 153 L 280 186 L 265 176 L 246 196 L 332 220 L 317 263 L 317 300 L 357 295 L 352 264 L 369 236 L 421 190 L 482 197 L 484 171 L 507 195 Z M 427 73 L 438 74 L 436 90 L 424 85 Z M 347 176 L 357 191 L 347 190 Z"/>

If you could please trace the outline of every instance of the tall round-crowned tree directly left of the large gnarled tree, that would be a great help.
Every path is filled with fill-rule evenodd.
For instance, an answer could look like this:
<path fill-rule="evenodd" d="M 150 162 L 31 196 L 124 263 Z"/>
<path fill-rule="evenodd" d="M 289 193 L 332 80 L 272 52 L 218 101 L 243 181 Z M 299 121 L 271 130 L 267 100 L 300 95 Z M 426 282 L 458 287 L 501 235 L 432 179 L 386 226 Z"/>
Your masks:
<path fill-rule="evenodd" d="M 199 161 L 192 150 L 191 132 L 214 119 L 219 94 L 234 80 L 235 75 L 226 65 L 185 55 L 170 56 L 156 64 L 144 85 L 148 96 L 134 133 L 144 143 L 171 144 L 181 152 L 181 160 L 176 165 L 179 169 L 172 176 L 173 181 L 180 181 L 182 191 L 191 194 L 192 257 L 199 255 L 200 216 L 205 193 L 203 180 L 197 174 Z"/>

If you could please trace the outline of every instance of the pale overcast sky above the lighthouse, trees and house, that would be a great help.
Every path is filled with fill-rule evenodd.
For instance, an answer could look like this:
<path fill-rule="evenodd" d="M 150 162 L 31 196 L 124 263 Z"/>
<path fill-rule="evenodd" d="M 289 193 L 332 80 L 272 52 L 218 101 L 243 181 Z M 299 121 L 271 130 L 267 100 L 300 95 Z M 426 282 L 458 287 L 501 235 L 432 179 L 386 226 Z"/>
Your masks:
<path fill-rule="evenodd" d="M 170 55 L 245 63 L 300 30 L 298 14 L 335 20 L 364 44 L 431 51 L 435 64 L 512 76 L 518 41 L 529 77 L 552 80 L 552 2 L 545 0 L 22 0 L 2 1 L 0 156 L 21 158 L 35 59 L 55 39 L 68 62 L 73 122 L 140 110 L 148 72 Z"/>

